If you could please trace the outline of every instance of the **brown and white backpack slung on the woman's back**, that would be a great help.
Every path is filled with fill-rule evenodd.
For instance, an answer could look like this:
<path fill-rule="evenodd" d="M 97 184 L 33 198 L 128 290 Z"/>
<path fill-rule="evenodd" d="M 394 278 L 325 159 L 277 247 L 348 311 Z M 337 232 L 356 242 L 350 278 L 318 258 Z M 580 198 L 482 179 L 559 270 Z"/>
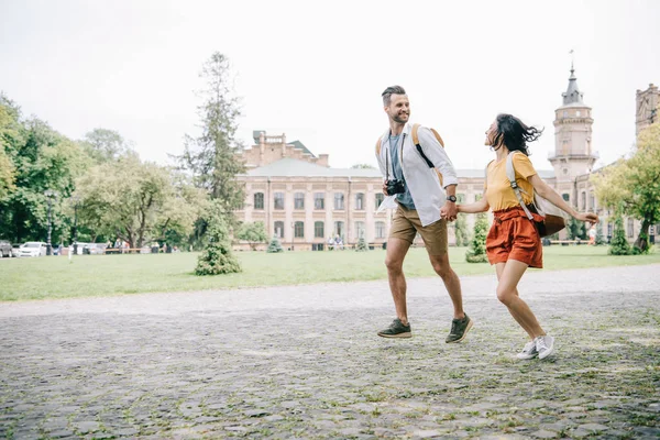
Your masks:
<path fill-rule="evenodd" d="M 536 190 L 534 191 L 534 199 L 532 199 L 530 207 L 527 207 L 525 205 L 525 202 L 522 201 L 522 196 L 520 193 L 525 193 L 525 191 L 518 186 L 518 184 L 516 182 L 516 169 L 514 168 L 514 154 L 522 154 L 522 153 L 513 151 L 508 154 L 508 156 L 506 157 L 506 177 L 508 177 L 508 179 L 512 184 L 512 188 L 514 189 L 514 193 L 516 194 L 516 198 L 518 199 L 520 207 L 522 207 L 525 215 L 527 216 L 527 218 L 529 220 L 535 222 L 540 237 L 552 235 L 552 234 L 561 231 L 562 229 L 564 229 L 566 227 L 566 219 L 565 219 L 564 211 L 562 211 L 561 209 L 559 209 L 558 207 L 552 205 L 552 202 L 550 202 L 549 200 L 539 196 Z M 532 211 L 536 211 L 535 213 L 538 213 L 539 216 L 541 216 L 543 218 L 543 220 L 542 221 L 534 220 L 534 216 L 531 215 L 531 211 L 529 208 L 531 208 Z"/>

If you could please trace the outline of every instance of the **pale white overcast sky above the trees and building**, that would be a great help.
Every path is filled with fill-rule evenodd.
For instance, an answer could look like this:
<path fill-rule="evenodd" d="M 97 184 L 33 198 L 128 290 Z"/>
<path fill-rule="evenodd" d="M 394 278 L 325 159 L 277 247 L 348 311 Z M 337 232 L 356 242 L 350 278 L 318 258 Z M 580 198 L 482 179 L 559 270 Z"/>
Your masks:
<path fill-rule="evenodd" d="M 530 158 L 551 169 L 573 62 L 598 167 L 629 152 L 636 90 L 660 84 L 658 18 L 654 0 L 0 0 L 0 91 L 66 136 L 114 130 L 170 164 L 199 133 L 199 73 L 220 52 L 245 146 L 266 130 L 333 167 L 375 165 L 381 94 L 400 85 L 457 168 L 493 158 L 484 132 L 507 112 L 544 129 Z"/>

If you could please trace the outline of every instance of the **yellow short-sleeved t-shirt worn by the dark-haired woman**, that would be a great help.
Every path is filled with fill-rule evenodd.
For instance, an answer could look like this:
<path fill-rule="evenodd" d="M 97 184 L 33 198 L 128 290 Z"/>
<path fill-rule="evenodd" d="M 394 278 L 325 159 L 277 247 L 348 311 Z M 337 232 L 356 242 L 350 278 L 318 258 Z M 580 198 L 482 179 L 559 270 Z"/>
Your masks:
<path fill-rule="evenodd" d="M 531 204 L 534 187 L 528 178 L 537 174 L 534 165 L 525 154 L 514 154 L 514 169 L 516 170 L 516 183 L 522 189 L 522 200 L 526 205 Z M 484 183 L 486 200 L 494 211 L 519 207 L 518 198 L 506 177 L 506 158 L 493 161 L 486 168 L 486 182 Z"/>

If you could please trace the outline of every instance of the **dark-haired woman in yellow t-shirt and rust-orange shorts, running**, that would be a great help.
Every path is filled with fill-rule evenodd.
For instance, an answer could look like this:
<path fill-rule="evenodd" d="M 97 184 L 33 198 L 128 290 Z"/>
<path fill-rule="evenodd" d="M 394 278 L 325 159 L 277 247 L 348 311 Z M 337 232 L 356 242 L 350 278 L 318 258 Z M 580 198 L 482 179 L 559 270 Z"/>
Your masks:
<path fill-rule="evenodd" d="M 534 191 L 548 199 L 552 205 L 564 210 L 575 219 L 596 223 L 595 213 L 580 213 L 546 184 L 529 161 L 527 143 L 536 141 L 541 131 L 525 125 L 510 114 L 498 114 L 488 131 L 485 144 L 495 152 L 495 160 L 486 167 L 484 197 L 470 205 L 459 205 L 459 212 L 476 213 L 493 209 L 493 226 L 486 238 L 486 254 L 497 272 L 497 299 L 507 308 L 514 319 L 530 338 L 518 359 L 546 359 L 554 351 L 554 338 L 548 336 L 539 324 L 527 304 L 518 296 L 518 283 L 527 267 L 542 267 L 542 245 L 534 221 L 528 219 L 512 188 L 506 174 L 506 162 L 509 153 L 514 154 L 513 163 L 516 183 L 521 188 L 522 201 L 530 205 Z M 534 215 L 538 217 L 538 215 Z M 540 218 L 535 218 L 540 220 Z"/>

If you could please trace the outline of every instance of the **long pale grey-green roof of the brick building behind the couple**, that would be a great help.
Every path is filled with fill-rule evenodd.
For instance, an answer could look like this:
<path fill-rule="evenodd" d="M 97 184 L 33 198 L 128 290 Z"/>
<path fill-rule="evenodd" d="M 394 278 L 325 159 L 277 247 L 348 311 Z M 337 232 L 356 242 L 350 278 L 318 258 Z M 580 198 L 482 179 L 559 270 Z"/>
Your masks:
<path fill-rule="evenodd" d="M 550 169 L 537 169 L 541 178 L 554 177 Z M 457 169 L 459 178 L 484 177 L 484 169 Z M 258 168 L 249 169 L 245 176 L 255 177 L 382 177 L 376 168 L 329 168 L 296 158 L 285 157 Z"/>

